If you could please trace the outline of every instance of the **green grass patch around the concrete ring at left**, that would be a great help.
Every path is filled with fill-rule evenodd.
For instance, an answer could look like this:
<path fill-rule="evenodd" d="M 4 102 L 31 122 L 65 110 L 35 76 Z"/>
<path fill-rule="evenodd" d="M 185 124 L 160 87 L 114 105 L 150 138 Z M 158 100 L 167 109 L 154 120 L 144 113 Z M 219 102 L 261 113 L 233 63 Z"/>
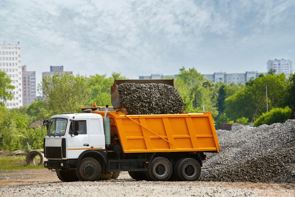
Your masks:
<path fill-rule="evenodd" d="M 22 170 L 44 168 L 44 165 L 27 165 L 26 155 L 0 157 L 0 170 Z"/>

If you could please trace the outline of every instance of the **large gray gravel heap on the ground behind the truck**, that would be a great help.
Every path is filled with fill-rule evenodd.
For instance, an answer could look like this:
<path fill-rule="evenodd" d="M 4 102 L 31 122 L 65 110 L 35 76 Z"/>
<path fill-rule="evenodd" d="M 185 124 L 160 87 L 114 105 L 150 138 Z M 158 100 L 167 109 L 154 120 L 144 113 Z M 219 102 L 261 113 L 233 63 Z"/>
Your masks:
<path fill-rule="evenodd" d="M 295 183 L 295 120 L 217 136 L 220 152 L 207 153 L 200 180 Z"/>

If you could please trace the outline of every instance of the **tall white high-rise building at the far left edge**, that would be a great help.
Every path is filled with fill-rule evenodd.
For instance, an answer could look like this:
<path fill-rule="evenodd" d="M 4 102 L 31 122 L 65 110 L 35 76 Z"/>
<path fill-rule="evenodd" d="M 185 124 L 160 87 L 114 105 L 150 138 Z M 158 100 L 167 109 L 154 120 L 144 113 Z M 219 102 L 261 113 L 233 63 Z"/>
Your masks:
<path fill-rule="evenodd" d="M 19 43 L 16 45 L 0 44 L 0 69 L 6 72 L 12 80 L 11 84 L 15 87 L 12 90 L 14 98 L 5 102 L 7 108 L 22 106 L 22 67 L 20 55 Z"/>

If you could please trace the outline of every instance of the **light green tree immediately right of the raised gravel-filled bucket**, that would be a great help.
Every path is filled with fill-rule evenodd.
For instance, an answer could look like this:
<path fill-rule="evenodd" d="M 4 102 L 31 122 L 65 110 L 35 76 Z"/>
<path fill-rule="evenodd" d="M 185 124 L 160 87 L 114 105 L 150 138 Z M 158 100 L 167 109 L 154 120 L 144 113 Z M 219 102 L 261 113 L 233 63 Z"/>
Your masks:
<path fill-rule="evenodd" d="M 202 113 L 204 105 L 206 111 L 211 111 L 213 116 L 218 115 L 215 105 L 219 85 L 204 79 L 195 68 L 179 69 L 174 85 L 186 103 L 184 110 L 190 113 Z"/>

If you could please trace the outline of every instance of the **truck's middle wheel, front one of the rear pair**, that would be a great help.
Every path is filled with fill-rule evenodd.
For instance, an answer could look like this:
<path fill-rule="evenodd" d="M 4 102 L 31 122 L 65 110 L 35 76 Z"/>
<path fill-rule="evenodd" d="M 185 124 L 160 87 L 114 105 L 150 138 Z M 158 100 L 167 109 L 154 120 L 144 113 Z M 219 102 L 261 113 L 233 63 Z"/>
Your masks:
<path fill-rule="evenodd" d="M 154 181 L 166 181 L 172 175 L 172 164 L 164 157 L 155 157 L 148 168 L 148 175 Z"/>

